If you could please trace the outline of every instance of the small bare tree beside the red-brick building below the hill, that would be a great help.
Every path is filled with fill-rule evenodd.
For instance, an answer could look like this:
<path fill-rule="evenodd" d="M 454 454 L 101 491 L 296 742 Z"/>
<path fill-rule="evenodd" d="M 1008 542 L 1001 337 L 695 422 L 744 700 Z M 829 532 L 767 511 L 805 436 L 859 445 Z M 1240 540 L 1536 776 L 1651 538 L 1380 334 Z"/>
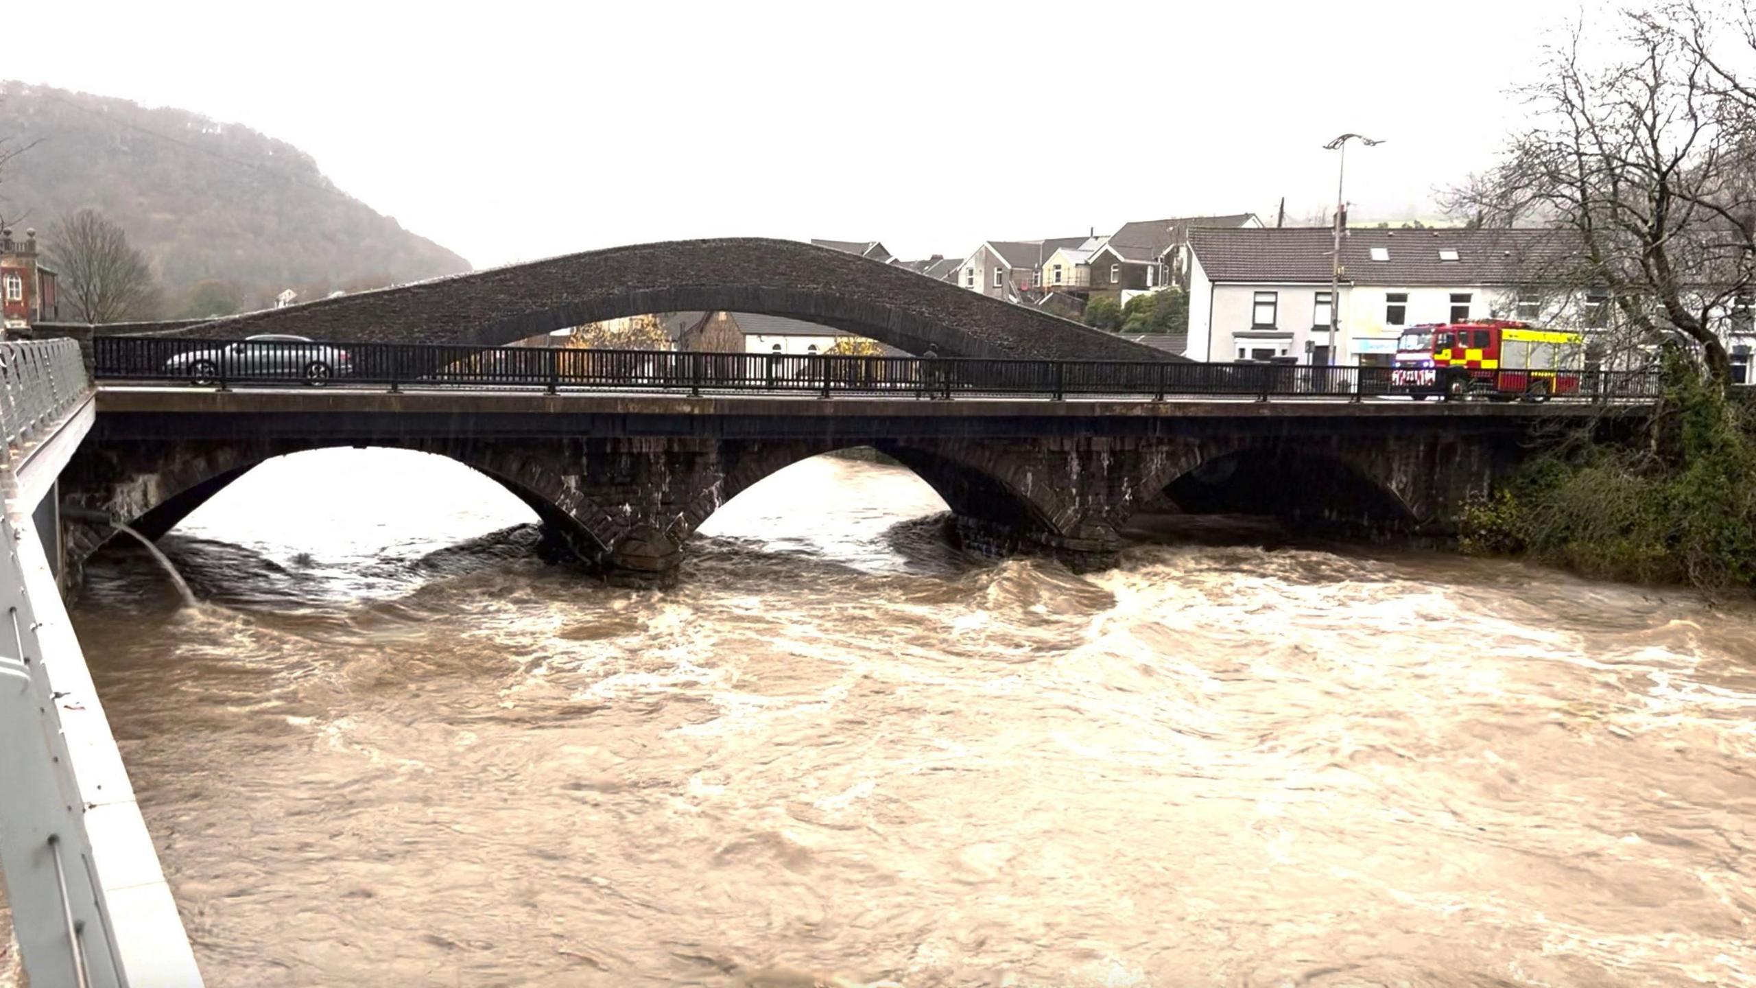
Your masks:
<path fill-rule="evenodd" d="M 79 209 L 49 229 L 49 262 L 60 274 L 61 297 L 81 322 L 151 318 L 158 285 L 128 246 L 128 234 L 97 209 Z"/>

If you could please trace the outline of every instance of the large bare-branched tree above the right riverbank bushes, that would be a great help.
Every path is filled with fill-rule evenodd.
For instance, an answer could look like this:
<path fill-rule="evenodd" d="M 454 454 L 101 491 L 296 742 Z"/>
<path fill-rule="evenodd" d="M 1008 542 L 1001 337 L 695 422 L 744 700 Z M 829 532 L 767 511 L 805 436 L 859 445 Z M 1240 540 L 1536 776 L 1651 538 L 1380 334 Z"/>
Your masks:
<path fill-rule="evenodd" d="M 1449 206 L 1482 225 L 1556 227 L 1526 265 L 1533 283 L 1579 299 L 1612 345 L 1686 338 L 1728 381 L 1723 331 L 1756 281 L 1756 104 L 1716 69 L 1693 0 L 1619 25 L 1608 46 L 1575 25 L 1549 47 L 1519 91 L 1531 127 Z"/>

